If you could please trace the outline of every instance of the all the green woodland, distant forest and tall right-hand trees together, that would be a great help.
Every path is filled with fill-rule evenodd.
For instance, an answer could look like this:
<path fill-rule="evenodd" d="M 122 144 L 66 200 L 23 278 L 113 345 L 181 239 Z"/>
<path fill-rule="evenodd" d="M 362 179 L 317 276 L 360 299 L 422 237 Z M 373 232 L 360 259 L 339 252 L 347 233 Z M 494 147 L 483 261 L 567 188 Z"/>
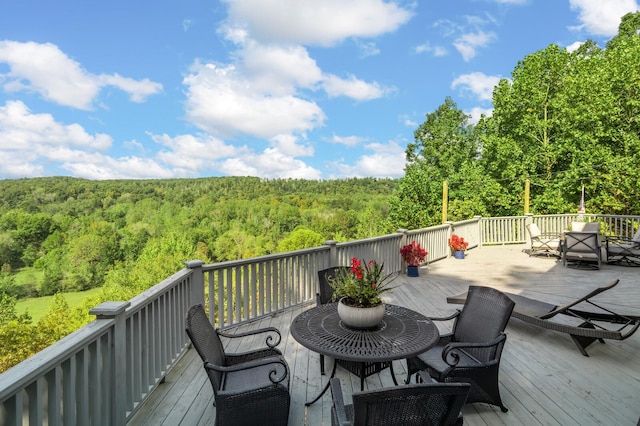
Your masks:
<path fill-rule="evenodd" d="M 0 181 L 0 371 L 180 270 L 216 262 L 531 211 L 640 214 L 640 12 L 601 48 L 526 56 L 476 125 L 451 98 L 415 131 L 405 176 L 332 181 L 203 178 Z M 24 279 L 32 271 L 34 279 Z M 70 309 L 60 293 L 99 288 Z M 18 298 L 56 294 L 34 324 Z"/>

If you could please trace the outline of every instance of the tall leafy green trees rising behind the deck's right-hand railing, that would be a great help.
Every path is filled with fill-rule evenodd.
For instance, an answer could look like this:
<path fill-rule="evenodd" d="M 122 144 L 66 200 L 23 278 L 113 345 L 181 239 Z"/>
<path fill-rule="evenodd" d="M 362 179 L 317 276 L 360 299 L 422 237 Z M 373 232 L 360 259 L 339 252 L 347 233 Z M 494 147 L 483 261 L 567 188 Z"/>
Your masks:
<path fill-rule="evenodd" d="M 391 200 L 398 226 L 439 223 L 442 182 L 449 217 L 575 212 L 584 187 L 591 213 L 640 214 L 640 12 L 622 18 L 602 48 L 557 45 L 527 55 L 493 91 L 477 125 L 446 99 L 407 147 Z"/>

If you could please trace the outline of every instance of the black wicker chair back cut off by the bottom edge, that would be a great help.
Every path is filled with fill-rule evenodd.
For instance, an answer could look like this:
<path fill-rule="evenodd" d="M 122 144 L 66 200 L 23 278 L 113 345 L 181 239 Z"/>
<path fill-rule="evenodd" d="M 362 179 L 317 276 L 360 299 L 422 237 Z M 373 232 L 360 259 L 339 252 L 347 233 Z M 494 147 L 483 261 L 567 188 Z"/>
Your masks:
<path fill-rule="evenodd" d="M 460 410 L 469 393 L 469 384 L 432 383 L 428 376 L 425 379 L 427 383 L 354 392 L 353 404 L 345 405 L 340 379 L 333 378 L 331 425 L 461 425 Z"/>

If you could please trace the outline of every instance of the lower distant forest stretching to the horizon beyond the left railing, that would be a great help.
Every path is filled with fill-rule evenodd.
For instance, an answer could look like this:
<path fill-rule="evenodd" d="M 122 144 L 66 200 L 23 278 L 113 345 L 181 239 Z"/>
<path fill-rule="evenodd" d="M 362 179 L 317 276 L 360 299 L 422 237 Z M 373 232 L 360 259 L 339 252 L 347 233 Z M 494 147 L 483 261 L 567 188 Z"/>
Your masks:
<path fill-rule="evenodd" d="M 102 301 L 128 300 L 186 260 L 392 232 L 387 204 L 397 186 L 373 178 L 0 181 L 0 371 L 87 323 Z M 19 298 L 96 287 L 78 309 L 56 297 L 37 324 L 15 309 Z"/>

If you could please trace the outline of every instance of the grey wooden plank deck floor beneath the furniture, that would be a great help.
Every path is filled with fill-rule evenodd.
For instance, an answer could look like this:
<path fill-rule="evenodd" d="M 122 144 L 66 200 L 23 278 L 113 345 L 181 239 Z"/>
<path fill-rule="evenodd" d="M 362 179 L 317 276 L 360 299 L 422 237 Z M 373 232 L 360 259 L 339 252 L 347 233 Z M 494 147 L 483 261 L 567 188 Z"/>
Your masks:
<path fill-rule="evenodd" d="M 483 247 L 465 260 L 435 262 L 419 278 L 402 276 L 387 294 L 388 303 L 428 316 L 453 312 L 446 297 L 470 284 L 487 285 L 550 303 L 563 303 L 619 278 L 620 284 L 597 300 L 616 311 L 640 315 L 640 268 L 603 265 L 599 271 L 564 268 L 553 258 L 528 257 L 524 246 Z M 327 377 L 320 376 L 319 357 L 288 333 L 292 319 L 307 307 L 290 309 L 242 329 L 275 326 L 283 333 L 283 350 L 291 370 L 290 425 L 330 425 L 331 392 L 306 408 Z M 640 418 L 640 332 L 624 341 L 593 343 L 584 357 L 568 335 L 512 319 L 507 327 L 500 385 L 509 412 L 486 404 L 467 404 L 468 425 L 636 425 Z M 247 342 L 243 342 L 246 344 Z M 229 346 L 233 352 L 238 347 Z M 327 360 L 331 371 L 331 360 Z M 394 363 L 399 380 L 404 362 Z M 347 401 L 359 390 L 359 379 L 338 368 Z M 366 380 L 368 389 L 393 386 L 389 371 Z M 130 425 L 210 425 L 214 423 L 213 392 L 194 350 L 152 394 Z M 349 401 L 350 402 L 350 401 Z"/>

